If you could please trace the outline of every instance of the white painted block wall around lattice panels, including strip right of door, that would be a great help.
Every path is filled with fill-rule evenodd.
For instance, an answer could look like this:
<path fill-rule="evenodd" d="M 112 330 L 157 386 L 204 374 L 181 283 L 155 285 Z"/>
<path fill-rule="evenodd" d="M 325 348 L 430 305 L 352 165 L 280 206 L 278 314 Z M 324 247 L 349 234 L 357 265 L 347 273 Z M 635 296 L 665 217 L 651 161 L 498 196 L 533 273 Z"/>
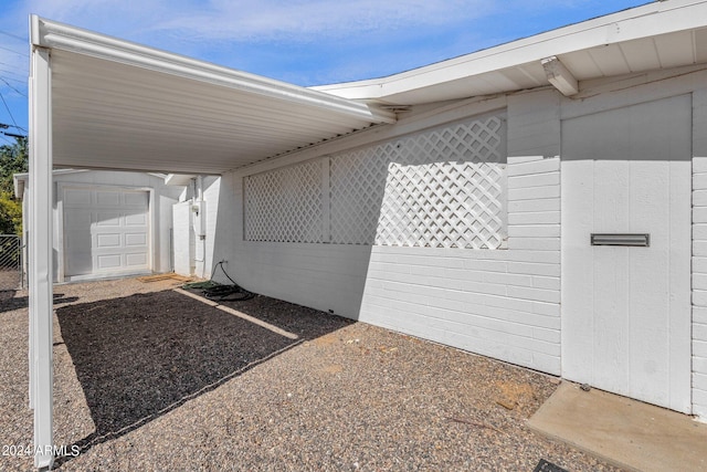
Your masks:
<path fill-rule="evenodd" d="M 592 97 L 588 102 L 551 90 L 499 101 L 496 108 L 505 108 L 508 119 L 507 250 L 474 255 L 243 241 L 243 176 L 388 139 L 395 129 L 414 132 L 414 113 L 394 126 L 224 176 L 221 188 L 231 197 L 221 204 L 219 218 L 225 224 L 219 224 L 217 240 L 222 243 L 215 250 L 229 259 L 239 283 L 255 292 L 559 374 L 560 118 L 693 94 L 693 412 L 707 418 L 707 72 L 655 78 L 644 77 L 643 85 L 634 80 L 631 88 L 621 81 L 593 83 L 583 91 Z M 479 104 L 458 106 L 451 119 L 493 109 Z M 420 119 L 432 122 L 430 126 L 441 123 L 430 108 L 423 115 Z M 224 227 L 232 228 L 233 238 L 221 231 Z"/>

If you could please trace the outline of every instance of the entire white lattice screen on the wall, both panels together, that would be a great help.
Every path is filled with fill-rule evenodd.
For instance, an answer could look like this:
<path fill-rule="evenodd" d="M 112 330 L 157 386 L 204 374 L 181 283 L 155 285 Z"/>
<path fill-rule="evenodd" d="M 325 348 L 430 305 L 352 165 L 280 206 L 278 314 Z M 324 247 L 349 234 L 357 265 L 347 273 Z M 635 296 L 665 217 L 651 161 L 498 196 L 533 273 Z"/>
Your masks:
<path fill-rule="evenodd" d="M 477 117 L 246 177 L 245 239 L 503 248 L 505 123 Z"/>

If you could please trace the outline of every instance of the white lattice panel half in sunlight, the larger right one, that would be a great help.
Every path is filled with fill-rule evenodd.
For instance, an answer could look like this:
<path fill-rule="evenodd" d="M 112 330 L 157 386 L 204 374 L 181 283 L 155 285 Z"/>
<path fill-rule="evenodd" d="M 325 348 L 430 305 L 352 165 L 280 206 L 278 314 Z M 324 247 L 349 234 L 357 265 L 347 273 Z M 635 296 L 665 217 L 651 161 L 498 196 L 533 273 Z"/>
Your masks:
<path fill-rule="evenodd" d="M 497 249 L 505 120 L 447 125 L 331 159 L 331 242 Z"/>

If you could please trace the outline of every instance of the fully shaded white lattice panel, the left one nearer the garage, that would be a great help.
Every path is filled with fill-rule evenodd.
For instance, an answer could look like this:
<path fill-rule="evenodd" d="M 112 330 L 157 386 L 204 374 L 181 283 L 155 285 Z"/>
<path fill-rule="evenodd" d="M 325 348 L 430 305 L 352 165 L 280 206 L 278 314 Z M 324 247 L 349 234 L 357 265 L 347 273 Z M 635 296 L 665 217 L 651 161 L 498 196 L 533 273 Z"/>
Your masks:
<path fill-rule="evenodd" d="M 323 241 L 321 160 L 244 179 L 245 240 Z"/>

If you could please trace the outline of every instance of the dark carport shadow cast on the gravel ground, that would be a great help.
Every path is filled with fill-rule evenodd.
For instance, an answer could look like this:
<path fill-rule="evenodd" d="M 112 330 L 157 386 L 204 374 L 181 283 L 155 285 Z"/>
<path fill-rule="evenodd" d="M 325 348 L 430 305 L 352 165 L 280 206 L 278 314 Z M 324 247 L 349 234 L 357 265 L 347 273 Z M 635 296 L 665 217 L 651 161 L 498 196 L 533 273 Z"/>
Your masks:
<path fill-rule="evenodd" d="M 75 445 L 87 451 L 122 437 L 303 340 L 354 323 L 264 296 L 229 306 L 279 324 L 299 339 L 173 291 L 57 308 L 63 342 L 95 424 Z"/>

